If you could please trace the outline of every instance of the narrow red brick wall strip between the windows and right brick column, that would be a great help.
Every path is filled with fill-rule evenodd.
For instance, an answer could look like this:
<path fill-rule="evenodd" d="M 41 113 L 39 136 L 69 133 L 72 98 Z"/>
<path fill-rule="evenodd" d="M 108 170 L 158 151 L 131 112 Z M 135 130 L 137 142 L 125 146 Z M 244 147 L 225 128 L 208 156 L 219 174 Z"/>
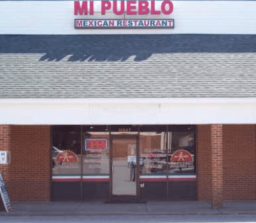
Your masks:
<path fill-rule="evenodd" d="M 211 126 L 197 126 L 197 197 L 212 200 Z"/>

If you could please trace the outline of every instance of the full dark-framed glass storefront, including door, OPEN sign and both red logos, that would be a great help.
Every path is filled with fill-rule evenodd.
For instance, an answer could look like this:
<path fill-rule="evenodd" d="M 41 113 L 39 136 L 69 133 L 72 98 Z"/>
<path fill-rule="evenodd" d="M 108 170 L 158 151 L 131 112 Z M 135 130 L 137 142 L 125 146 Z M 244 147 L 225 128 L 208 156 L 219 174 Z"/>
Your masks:
<path fill-rule="evenodd" d="M 184 188 L 195 185 L 194 130 L 166 125 L 53 126 L 54 196 L 88 200 L 141 193 L 173 199 L 178 182 Z"/>

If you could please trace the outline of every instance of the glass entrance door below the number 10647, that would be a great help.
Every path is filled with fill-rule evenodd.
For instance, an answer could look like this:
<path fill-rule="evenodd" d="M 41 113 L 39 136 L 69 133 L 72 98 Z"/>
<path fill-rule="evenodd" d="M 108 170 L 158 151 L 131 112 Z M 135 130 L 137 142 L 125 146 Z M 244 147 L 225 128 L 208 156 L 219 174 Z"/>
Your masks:
<path fill-rule="evenodd" d="M 136 196 L 136 144 L 134 135 L 113 135 L 112 194 Z"/>

